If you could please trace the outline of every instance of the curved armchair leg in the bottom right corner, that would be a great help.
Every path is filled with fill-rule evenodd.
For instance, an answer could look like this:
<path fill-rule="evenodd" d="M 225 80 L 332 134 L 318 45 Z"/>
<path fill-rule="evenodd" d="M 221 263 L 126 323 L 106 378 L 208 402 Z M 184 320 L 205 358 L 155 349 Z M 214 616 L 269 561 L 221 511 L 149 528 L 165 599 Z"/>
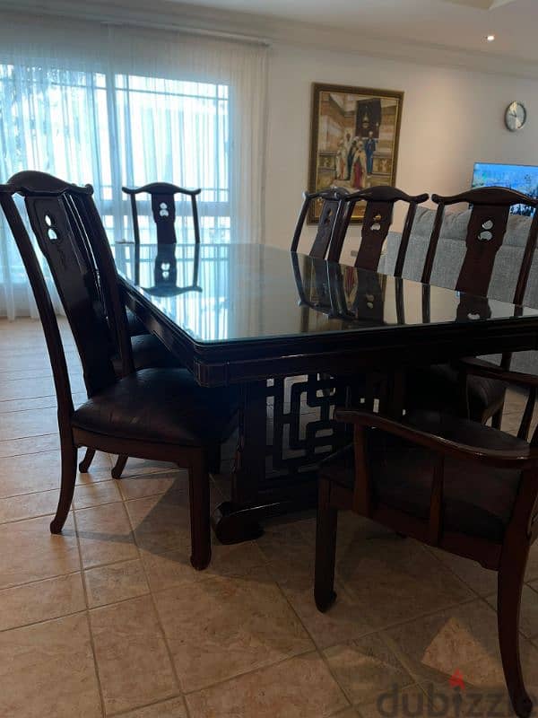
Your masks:
<path fill-rule="evenodd" d="M 525 690 L 519 657 L 519 610 L 528 548 L 501 559 L 497 588 L 497 619 L 502 668 L 510 700 L 519 718 L 527 718 L 533 703 Z"/>

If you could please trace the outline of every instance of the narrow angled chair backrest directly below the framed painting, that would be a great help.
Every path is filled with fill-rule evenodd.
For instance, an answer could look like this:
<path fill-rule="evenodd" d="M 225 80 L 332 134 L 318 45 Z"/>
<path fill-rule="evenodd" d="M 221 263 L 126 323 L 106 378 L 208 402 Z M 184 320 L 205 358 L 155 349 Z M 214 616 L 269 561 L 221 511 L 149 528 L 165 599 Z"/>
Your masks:
<path fill-rule="evenodd" d="M 324 189 L 321 192 L 305 192 L 303 206 L 299 212 L 299 219 L 291 241 L 291 251 L 296 252 L 299 247 L 300 235 L 308 212 L 315 202 L 321 203 L 321 212 L 317 223 L 316 237 L 308 254 L 310 257 L 324 259 L 334 236 L 336 223 L 342 221 L 342 201 L 348 194 L 347 189 L 335 187 Z"/>

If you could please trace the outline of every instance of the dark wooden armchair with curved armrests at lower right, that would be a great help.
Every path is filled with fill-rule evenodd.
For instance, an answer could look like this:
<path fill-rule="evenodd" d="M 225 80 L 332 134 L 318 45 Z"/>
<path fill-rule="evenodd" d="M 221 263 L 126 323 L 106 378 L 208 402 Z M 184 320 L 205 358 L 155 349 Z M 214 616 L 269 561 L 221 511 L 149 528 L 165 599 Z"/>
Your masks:
<path fill-rule="evenodd" d="M 488 376 L 479 365 L 470 371 Z M 530 388 L 521 438 L 438 412 L 411 412 L 395 421 L 336 410 L 337 419 L 353 425 L 354 442 L 319 470 L 315 598 L 320 611 L 336 598 L 341 510 L 497 571 L 502 665 L 514 710 L 527 718 L 532 702 L 521 670 L 518 623 L 527 556 L 538 536 L 538 432 L 530 443 L 524 437 L 538 379 L 514 372 L 503 372 L 503 378 Z"/>

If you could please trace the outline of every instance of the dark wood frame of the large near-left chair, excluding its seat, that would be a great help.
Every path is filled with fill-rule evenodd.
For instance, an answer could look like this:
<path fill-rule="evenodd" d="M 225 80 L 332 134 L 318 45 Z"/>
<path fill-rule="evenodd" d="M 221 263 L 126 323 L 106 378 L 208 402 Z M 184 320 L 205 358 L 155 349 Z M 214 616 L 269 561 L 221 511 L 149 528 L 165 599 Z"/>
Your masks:
<path fill-rule="evenodd" d="M 115 344 L 110 341 L 111 330 L 116 333 L 117 346 L 120 348 L 121 376 L 133 373 L 134 364 L 130 337 L 126 330 L 125 303 L 118 290 L 114 260 L 107 238 L 101 237 L 102 241 L 92 242 L 91 246 L 96 253 L 107 253 L 107 257 L 98 261 L 98 266 L 100 287 L 107 294 L 105 303 L 108 312 L 112 311 L 111 316 L 107 316 L 105 306 L 100 302 L 92 276 L 93 269 L 87 265 L 74 240 L 74 234 L 82 227 L 81 214 L 88 215 L 96 232 L 102 228 L 97 209 L 91 200 L 93 189 L 90 185 L 81 188 L 67 184 L 41 172 L 29 171 L 14 175 L 7 184 L 0 185 L 0 206 L 13 232 L 38 305 L 58 404 L 62 477 L 56 516 L 50 524 L 50 530 L 52 533 L 61 532 L 71 507 L 78 447 L 85 446 L 91 451 L 107 451 L 119 456 L 174 462 L 189 471 L 191 563 L 196 569 L 204 569 L 211 560 L 207 456 L 211 454 L 212 447 L 126 440 L 82 430 L 73 425 L 74 405 L 62 339 L 39 260 L 13 200 L 16 193 L 24 197 L 39 249 L 47 259 L 64 305 L 81 356 L 88 396 L 99 393 L 117 381 L 110 358 Z"/>

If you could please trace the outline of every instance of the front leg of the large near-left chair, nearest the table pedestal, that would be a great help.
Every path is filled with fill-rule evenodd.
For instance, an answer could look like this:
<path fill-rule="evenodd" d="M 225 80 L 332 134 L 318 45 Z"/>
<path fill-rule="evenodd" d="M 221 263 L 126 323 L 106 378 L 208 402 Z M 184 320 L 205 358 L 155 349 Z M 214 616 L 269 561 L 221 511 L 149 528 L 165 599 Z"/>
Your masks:
<path fill-rule="evenodd" d="M 203 571 L 211 561 L 209 474 L 203 451 L 195 454 L 188 472 L 191 512 L 191 564 Z"/>

